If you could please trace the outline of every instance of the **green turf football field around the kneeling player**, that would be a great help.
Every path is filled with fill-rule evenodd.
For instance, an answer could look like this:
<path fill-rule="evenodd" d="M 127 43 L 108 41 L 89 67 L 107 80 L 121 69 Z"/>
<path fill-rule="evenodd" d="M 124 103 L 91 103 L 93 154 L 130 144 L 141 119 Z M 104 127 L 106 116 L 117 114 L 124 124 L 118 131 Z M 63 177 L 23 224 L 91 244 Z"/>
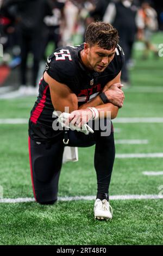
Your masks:
<path fill-rule="evenodd" d="M 163 35 L 154 36 L 156 44 Z M 135 50 L 132 86 L 118 118 L 163 118 L 163 57 L 141 59 Z M 0 121 L 29 118 L 35 97 L 0 100 Z M 161 120 L 161 119 L 160 119 Z M 146 144 L 116 144 L 116 154 L 163 153 L 163 122 L 117 123 L 115 139 L 146 140 Z M 3 198 L 32 198 L 28 160 L 28 125 L 0 123 L 0 185 Z M 79 149 L 79 161 L 62 167 L 59 197 L 95 196 L 94 147 Z M 162 157 L 116 157 L 110 196 L 163 194 Z M 73 179 L 72 179 L 73 177 Z M 2 199 L 3 199 L 2 198 Z M 163 245 L 162 199 L 110 200 L 111 221 L 93 219 L 94 200 L 58 201 L 53 206 L 35 202 L 0 203 L 2 245 Z"/>

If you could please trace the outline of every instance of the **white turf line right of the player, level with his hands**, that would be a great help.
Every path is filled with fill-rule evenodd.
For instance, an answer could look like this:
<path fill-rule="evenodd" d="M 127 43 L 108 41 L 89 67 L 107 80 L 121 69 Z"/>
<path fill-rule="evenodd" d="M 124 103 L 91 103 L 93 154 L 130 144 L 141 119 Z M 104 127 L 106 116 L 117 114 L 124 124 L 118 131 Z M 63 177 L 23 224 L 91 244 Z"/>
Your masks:
<path fill-rule="evenodd" d="M 112 120 L 113 123 L 163 123 L 161 117 L 120 117 Z"/>

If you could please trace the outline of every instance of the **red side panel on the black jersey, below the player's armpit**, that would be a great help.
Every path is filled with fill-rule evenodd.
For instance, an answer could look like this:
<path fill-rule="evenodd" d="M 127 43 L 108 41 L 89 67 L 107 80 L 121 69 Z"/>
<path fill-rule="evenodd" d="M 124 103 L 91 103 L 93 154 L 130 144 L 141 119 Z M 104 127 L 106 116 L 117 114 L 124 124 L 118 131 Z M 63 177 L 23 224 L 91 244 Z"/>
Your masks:
<path fill-rule="evenodd" d="M 35 110 L 33 111 L 31 117 L 30 117 L 30 121 L 32 121 L 34 124 L 37 123 L 37 120 L 39 119 L 43 108 L 45 107 L 45 102 L 46 102 L 46 92 L 47 92 L 47 88 L 49 86 L 47 85 L 43 91 L 43 95 L 42 98 L 40 100 L 40 102 L 38 103 L 38 105 L 36 106 Z"/>

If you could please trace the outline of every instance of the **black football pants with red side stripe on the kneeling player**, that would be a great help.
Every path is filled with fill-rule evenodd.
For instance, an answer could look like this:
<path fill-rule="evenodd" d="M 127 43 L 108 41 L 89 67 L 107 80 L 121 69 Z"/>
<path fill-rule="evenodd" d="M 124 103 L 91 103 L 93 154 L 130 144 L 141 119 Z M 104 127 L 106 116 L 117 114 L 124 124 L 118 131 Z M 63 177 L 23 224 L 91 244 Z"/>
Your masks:
<path fill-rule="evenodd" d="M 97 192 L 108 193 L 115 159 L 114 132 L 101 136 L 100 131 L 85 135 L 68 131 L 70 147 L 90 147 L 96 144 L 94 164 L 97 174 Z M 59 175 L 64 152 L 62 138 L 55 143 L 39 143 L 29 137 L 29 159 L 34 196 L 39 203 L 57 200 Z M 83 168 L 86 168 L 83 166 Z"/>

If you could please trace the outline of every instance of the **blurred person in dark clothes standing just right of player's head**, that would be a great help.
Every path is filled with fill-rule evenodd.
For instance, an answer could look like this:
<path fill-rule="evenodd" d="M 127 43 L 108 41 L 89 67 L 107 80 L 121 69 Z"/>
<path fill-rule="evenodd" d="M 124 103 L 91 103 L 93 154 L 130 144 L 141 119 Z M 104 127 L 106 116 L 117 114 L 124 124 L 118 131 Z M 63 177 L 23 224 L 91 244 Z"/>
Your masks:
<path fill-rule="evenodd" d="M 136 39 L 137 10 L 138 8 L 133 0 L 120 0 L 118 2 L 109 3 L 103 17 L 103 21 L 111 23 L 117 29 L 120 36 L 120 45 L 125 54 L 125 63 L 122 69 L 121 78 L 122 83 L 126 87 L 130 86 L 128 63 Z"/>

